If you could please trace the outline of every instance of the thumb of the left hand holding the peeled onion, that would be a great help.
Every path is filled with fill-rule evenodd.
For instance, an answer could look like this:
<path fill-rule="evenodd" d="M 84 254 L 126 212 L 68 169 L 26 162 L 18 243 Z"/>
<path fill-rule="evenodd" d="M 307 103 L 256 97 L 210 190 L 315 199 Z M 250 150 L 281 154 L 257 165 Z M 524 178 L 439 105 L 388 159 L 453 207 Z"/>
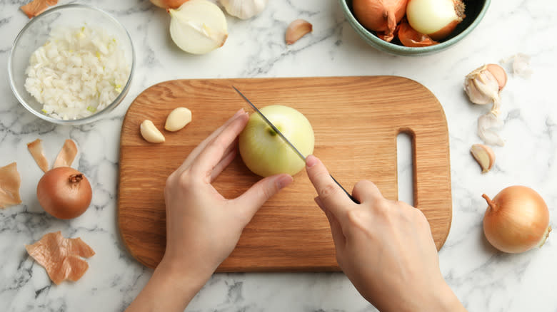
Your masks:
<path fill-rule="evenodd" d="M 244 194 L 234 199 L 235 204 L 238 204 L 240 209 L 246 211 L 249 216 L 254 217 L 254 214 L 265 204 L 265 202 L 278 193 L 281 189 L 286 187 L 293 181 L 291 175 L 271 175 L 259 180 L 256 184 L 252 185 Z M 247 220 L 249 222 L 249 220 Z"/>

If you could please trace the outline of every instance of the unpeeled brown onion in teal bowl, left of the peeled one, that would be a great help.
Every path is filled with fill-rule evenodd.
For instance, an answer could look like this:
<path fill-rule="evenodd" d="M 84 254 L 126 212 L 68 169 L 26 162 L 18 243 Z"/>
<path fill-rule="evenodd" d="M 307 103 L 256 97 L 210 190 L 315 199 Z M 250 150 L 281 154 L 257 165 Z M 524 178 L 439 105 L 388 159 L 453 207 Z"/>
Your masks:
<path fill-rule="evenodd" d="M 381 38 L 391 41 L 396 24 L 406 14 L 408 0 L 353 0 L 352 9 L 363 27 L 381 32 Z"/>

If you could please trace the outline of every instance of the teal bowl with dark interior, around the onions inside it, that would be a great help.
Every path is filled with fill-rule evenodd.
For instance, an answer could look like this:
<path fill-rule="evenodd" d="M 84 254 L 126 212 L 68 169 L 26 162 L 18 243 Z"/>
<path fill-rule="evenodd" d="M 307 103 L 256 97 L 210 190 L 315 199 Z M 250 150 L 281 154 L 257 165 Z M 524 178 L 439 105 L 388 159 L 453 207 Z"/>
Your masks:
<path fill-rule="evenodd" d="M 358 33 L 358 36 L 370 46 L 399 56 L 422 56 L 443 51 L 453 46 L 455 43 L 458 43 L 458 41 L 461 41 L 462 38 L 468 36 L 468 33 L 471 33 L 471 31 L 478 26 L 481 19 L 483 19 L 483 16 L 486 15 L 491 0 L 464 1 L 466 4 L 466 17 L 456 26 L 451 35 L 435 46 L 423 46 L 418 48 L 403 46 L 398 41 L 398 38 L 393 39 L 392 42 L 380 39 L 376 36 L 374 31 L 368 30 L 358 22 L 352 11 L 352 0 L 338 0 L 338 2 L 350 26 L 352 26 L 354 31 Z"/>

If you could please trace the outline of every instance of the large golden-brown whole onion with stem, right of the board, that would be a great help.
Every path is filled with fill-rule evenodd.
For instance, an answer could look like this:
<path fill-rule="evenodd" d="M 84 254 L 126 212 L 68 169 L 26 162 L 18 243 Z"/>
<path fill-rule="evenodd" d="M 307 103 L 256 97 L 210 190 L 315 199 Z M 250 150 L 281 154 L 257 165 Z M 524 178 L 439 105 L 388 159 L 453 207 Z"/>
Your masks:
<path fill-rule="evenodd" d="M 496 249 L 518 254 L 545 243 L 551 227 L 543 198 L 529 187 L 503 189 L 488 202 L 483 216 L 483 233 Z"/>

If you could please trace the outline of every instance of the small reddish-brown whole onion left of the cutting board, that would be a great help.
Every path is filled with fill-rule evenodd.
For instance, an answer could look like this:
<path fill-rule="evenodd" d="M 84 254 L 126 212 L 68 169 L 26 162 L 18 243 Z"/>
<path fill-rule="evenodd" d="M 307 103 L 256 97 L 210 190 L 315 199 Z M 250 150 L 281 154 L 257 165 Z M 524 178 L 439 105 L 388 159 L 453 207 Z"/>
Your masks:
<path fill-rule="evenodd" d="M 36 187 L 41 207 L 59 219 L 73 219 L 91 204 L 91 184 L 85 175 L 71 167 L 57 167 L 41 177 Z"/>

